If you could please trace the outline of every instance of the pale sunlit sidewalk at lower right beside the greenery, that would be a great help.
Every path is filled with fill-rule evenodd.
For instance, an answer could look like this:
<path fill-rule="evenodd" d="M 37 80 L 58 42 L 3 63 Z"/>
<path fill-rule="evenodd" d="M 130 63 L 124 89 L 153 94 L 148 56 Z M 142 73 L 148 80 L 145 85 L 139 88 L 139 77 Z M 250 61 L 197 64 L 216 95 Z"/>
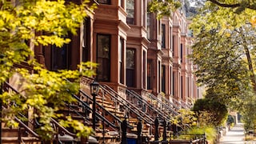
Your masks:
<path fill-rule="evenodd" d="M 245 141 L 245 134 L 242 123 L 238 123 L 231 130 L 222 136 L 221 144 L 256 144 L 256 141 Z"/>

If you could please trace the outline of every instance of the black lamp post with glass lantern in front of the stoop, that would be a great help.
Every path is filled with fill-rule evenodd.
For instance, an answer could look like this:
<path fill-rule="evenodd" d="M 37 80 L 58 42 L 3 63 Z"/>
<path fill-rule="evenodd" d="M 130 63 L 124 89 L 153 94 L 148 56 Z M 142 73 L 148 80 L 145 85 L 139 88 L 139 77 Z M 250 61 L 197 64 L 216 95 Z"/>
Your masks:
<path fill-rule="evenodd" d="M 93 129 L 96 129 L 96 96 L 98 95 L 98 82 L 90 83 L 90 94 L 93 96 Z"/>

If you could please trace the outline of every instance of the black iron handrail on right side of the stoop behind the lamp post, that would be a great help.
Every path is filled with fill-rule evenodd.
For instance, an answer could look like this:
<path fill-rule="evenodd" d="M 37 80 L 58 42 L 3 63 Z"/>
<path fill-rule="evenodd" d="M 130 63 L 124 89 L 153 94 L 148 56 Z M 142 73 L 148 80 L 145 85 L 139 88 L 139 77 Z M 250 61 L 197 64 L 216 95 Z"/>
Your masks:
<path fill-rule="evenodd" d="M 108 89 L 108 90 L 106 90 L 106 88 Z M 144 114 L 144 112 L 142 111 L 142 110 L 139 110 L 138 109 L 138 107 L 137 106 L 134 106 L 134 104 L 132 104 L 131 102 L 129 102 L 129 101 L 127 101 L 125 98 L 122 98 L 116 91 L 114 91 L 113 89 L 111 89 L 110 88 L 110 86 L 107 86 L 107 85 L 100 85 L 100 87 L 102 88 L 102 90 L 104 90 L 104 91 L 106 91 L 106 93 L 107 94 L 110 94 L 110 91 L 109 90 L 111 90 L 111 92 L 112 93 L 114 93 L 114 95 L 113 94 L 110 94 L 113 98 L 115 98 L 116 100 L 118 100 L 118 102 L 121 102 L 123 105 L 126 105 L 127 106 L 127 108 L 129 109 L 129 110 L 131 110 L 132 112 L 134 112 L 134 114 L 136 114 L 136 115 L 138 115 L 140 118 L 142 118 L 145 122 L 148 122 L 148 123 L 150 123 L 150 124 L 153 124 L 154 123 L 154 120 L 152 119 L 152 118 L 150 118 L 147 114 Z M 117 98 L 118 97 L 118 98 Z M 122 101 L 124 101 L 124 102 L 126 102 L 127 104 L 125 104 L 124 102 L 122 102 L 119 98 L 122 98 Z M 129 106 L 133 106 L 133 108 L 130 108 Z M 135 110 L 138 110 L 138 111 L 135 111 Z M 140 115 L 140 114 L 143 114 L 143 117 L 142 117 L 142 115 Z M 147 118 L 147 119 L 146 119 Z"/>

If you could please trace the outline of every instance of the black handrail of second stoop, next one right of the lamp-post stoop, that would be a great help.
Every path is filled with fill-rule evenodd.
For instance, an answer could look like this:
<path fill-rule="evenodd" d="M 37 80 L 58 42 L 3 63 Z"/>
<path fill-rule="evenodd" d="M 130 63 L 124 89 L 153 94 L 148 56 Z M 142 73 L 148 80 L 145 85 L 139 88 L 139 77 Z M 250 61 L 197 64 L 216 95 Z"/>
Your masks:
<path fill-rule="evenodd" d="M 165 118 L 167 121 L 170 120 L 170 118 L 166 116 L 166 114 L 158 109 L 153 108 L 153 106 L 150 105 L 149 102 L 147 102 L 144 98 L 135 93 L 134 90 L 126 90 L 126 93 L 132 94 L 132 96 L 136 97 L 140 102 L 145 103 L 146 106 L 148 106 L 151 110 L 154 110 L 154 112 L 156 112 L 157 114 L 161 115 L 162 118 Z"/>

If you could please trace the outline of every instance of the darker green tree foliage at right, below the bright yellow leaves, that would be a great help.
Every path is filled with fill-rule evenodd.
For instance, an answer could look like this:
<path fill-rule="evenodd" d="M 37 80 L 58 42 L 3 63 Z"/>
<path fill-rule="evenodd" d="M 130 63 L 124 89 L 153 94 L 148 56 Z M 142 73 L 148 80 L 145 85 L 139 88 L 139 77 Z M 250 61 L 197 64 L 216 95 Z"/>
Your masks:
<path fill-rule="evenodd" d="M 206 86 L 208 95 L 227 106 L 238 107 L 255 89 L 254 37 L 250 25 L 234 30 L 218 26 L 196 35 L 191 58 L 198 65 L 198 83 Z"/>

